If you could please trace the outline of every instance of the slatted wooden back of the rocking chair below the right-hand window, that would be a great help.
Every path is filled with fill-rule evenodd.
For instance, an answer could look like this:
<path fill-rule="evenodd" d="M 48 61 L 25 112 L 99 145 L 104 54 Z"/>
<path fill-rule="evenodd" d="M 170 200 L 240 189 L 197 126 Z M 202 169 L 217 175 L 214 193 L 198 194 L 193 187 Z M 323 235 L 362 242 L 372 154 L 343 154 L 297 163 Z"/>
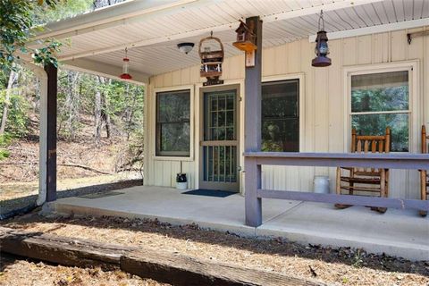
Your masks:
<path fill-rule="evenodd" d="M 422 137 L 423 138 L 423 137 Z M 391 129 L 386 128 L 385 135 L 357 135 L 356 129 L 351 130 L 351 153 L 389 153 L 391 151 Z M 378 175 L 380 169 L 355 168 L 359 175 Z"/>

